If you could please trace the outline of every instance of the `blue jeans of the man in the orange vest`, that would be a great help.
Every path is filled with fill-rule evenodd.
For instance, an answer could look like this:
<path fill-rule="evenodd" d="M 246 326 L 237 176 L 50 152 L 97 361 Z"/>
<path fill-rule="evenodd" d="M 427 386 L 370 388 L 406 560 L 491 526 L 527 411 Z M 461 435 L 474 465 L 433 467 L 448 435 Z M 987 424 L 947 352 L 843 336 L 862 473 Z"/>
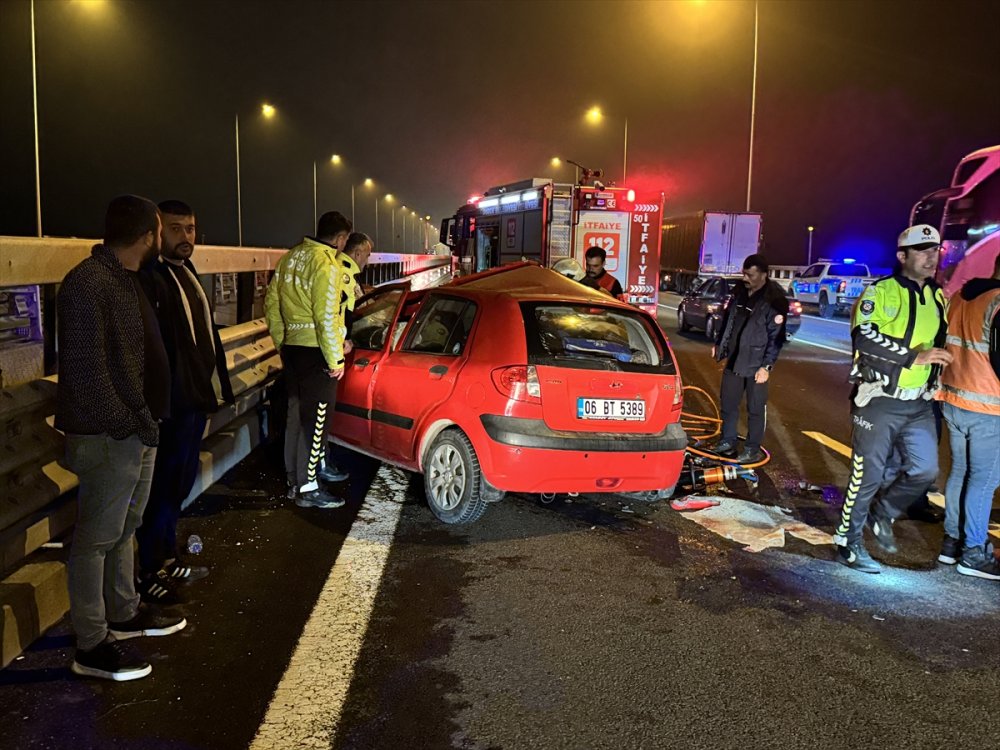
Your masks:
<path fill-rule="evenodd" d="M 966 547 L 981 547 L 986 544 L 993 492 L 1000 485 L 1000 416 L 947 402 L 942 411 L 951 441 L 944 531 Z"/>

